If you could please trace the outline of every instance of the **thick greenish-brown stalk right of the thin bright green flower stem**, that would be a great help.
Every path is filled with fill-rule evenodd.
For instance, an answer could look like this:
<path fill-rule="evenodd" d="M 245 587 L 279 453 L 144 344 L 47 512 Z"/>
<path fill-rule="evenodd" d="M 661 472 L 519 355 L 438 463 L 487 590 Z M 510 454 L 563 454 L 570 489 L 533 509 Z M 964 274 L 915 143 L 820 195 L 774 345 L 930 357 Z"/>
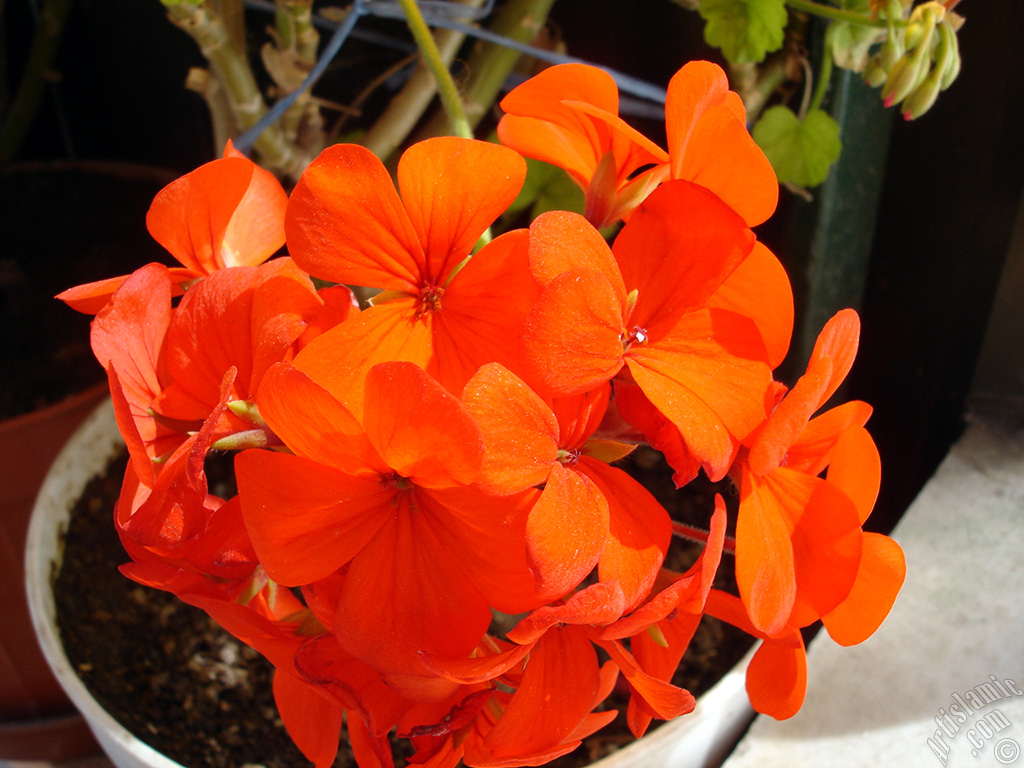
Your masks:
<path fill-rule="evenodd" d="M 517 43 L 530 43 L 544 28 L 555 0 L 510 0 L 502 6 L 489 31 Z M 480 42 L 466 62 L 469 80 L 463 88 L 462 100 L 466 119 L 476 127 L 487 110 L 498 99 L 505 80 L 519 57 L 517 50 L 497 43 Z M 418 138 L 436 136 L 443 132 L 443 116 L 431 118 Z"/>

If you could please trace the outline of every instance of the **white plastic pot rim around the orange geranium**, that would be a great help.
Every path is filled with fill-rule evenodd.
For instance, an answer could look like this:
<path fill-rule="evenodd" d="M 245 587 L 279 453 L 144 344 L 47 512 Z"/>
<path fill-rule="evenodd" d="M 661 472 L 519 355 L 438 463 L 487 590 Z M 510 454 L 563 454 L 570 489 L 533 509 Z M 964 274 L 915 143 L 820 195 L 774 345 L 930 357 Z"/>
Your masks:
<path fill-rule="evenodd" d="M 118 768 L 182 768 L 132 735 L 92 697 L 75 674 L 56 627 L 53 580 L 71 510 L 89 480 L 103 471 L 123 441 L 106 400 L 57 457 L 40 489 L 29 526 L 26 580 L 32 623 L 47 663 Z M 654 729 L 594 768 L 711 768 L 725 759 L 754 717 L 744 687 L 746 656 L 697 699 L 696 710 Z M 194 767 L 198 768 L 198 767 Z"/>

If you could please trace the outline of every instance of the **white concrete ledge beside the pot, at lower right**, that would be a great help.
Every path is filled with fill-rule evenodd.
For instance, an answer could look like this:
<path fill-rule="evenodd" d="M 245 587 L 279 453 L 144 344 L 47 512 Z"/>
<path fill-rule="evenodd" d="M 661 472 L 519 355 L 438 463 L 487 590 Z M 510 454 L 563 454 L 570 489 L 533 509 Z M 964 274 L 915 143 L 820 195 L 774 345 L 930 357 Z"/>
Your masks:
<path fill-rule="evenodd" d="M 1024 766 L 1024 431 L 975 420 L 893 537 L 885 624 L 816 638 L 804 708 L 759 717 L 725 768 Z"/>

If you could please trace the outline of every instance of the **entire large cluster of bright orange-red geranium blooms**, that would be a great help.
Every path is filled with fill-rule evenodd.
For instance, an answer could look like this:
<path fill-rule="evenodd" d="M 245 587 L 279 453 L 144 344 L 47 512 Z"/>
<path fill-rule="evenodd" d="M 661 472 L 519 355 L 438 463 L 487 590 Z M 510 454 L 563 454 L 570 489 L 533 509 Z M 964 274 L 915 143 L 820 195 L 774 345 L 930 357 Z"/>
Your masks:
<path fill-rule="evenodd" d="M 392 765 L 392 732 L 415 764 L 542 764 L 615 717 L 600 705 L 618 680 L 639 736 L 693 709 L 670 680 L 706 614 L 762 640 L 751 700 L 790 717 L 801 629 L 860 642 L 902 583 L 899 547 L 862 529 L 870 408 L 815 415 L 857 315 L 827 324 L 792 389 L 773 380 L 793 300 L 750 227 L 777 184 L 722 71 L 673 79 L 668 151 L 589 67 L 502 106 L 504 145 L 415 144 L 397 189 L 357 145 L 291 196 L 228 147 L 153 203 L 181 267 L 60 297 L 96 313 L 130 454 L 123 571 L 265 655 L 318 767 L 343 721 L 361 766 Z M 492 240 L 523 155 L 568 171 L 587 215 Z M 620 222 L 609 246 L 597 227 Z M 379 293 L 360 311 L 348 286 Z M 734 539 L 719 498 L 684 572 L 663 567 L 681 526 L 615 466 L 640 441 L 678 486 L 738 489 Z M 214 450 L 237 452 L 230 499 L 208 487 Z M 738 595 L 712 587 L 733 563 Z"/>

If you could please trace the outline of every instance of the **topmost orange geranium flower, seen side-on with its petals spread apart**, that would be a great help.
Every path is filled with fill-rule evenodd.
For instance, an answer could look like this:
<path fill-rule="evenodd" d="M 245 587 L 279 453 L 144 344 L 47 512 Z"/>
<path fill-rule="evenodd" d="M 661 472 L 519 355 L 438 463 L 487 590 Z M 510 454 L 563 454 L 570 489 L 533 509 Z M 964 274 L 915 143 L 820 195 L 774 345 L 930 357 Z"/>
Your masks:
<path fill-rule="evenodd" d="M 751 226 L 778 202 L 775 173 L 746 130 L 743 104 L 710 61 L 690 61 L 669 83 L 668 153 L 618 117 L 615 82 L 595 67 L 551 67 L 501 106 L 502 143 L 565 169 L 585 190 L 595 226 L 627 218 L 669 178 L 711 189 Z"/>

